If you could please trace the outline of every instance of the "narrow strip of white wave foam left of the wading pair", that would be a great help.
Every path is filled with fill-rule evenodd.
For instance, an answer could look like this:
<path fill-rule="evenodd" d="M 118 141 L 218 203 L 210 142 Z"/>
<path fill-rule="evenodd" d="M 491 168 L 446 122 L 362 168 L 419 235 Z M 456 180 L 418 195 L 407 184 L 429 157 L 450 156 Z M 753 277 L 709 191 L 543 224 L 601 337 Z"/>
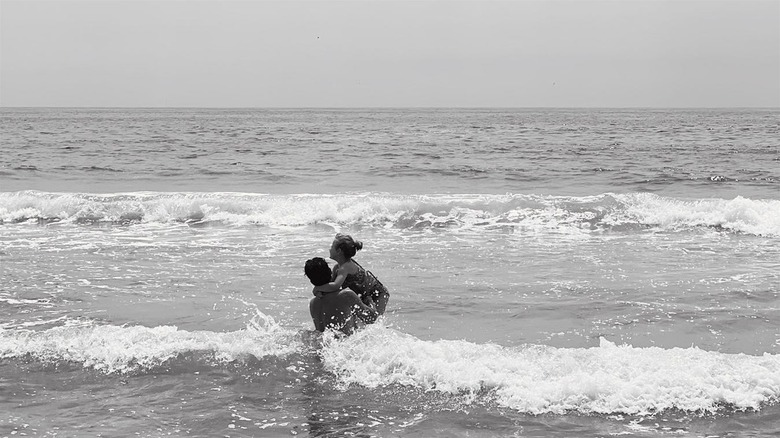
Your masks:
<path fill-rule="evenodd" d="M 284 357 L 300 349 L 297 332 L 275 323 L 225 333 L 92 323 L 68 323 L 45 331 L 0 328 L 0 359 L 32 357 L 44 363 L 81 364 L 104 373 L 154 369 L 191 353 L 231 362 L 248 355 Z"/>

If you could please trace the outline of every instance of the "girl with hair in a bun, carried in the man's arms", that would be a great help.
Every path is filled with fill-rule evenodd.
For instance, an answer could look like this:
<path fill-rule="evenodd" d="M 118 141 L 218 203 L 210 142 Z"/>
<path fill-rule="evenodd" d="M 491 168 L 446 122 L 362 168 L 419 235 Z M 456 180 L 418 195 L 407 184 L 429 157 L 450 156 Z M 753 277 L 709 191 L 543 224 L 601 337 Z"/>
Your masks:
<path fill-rule="evenodd" d="M 382 315 L 385 313 L 390 293 L 371 271 L 364 269 L 352 257 L 363 249 L 363 242 L 357 241 L 347 234 L 336 234 L 330 246 L 330 258 L 336 262 L 333 267 L 332 281 L 314 288 L 315 295 L 335 292 L 344 288 L 355 291 L 364 303 L 376 308 Z"/>

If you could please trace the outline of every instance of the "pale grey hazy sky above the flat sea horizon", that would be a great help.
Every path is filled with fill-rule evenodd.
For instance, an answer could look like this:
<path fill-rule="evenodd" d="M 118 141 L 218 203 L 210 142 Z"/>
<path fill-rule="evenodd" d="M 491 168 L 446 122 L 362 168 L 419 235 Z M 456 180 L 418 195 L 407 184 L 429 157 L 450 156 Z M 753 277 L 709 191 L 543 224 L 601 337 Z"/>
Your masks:
<path fill-rule="evenodd" d="M 0 105 L 778 107 L 780 0 L 0 0 Z"/>

